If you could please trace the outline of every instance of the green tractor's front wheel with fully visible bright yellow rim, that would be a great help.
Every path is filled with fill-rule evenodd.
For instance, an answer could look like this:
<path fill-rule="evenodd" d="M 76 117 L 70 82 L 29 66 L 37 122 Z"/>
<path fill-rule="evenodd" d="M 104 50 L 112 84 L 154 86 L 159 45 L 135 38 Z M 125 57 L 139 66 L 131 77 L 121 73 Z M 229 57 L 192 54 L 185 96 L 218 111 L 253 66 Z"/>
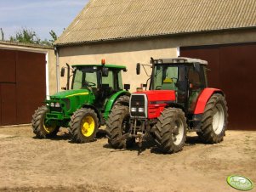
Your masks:
<path fill-rule="evenodd" d="M 82 108 L 71 117 L 71 140 L 78 144 L 94 141 L 99 119 L 94 110 Z"/>

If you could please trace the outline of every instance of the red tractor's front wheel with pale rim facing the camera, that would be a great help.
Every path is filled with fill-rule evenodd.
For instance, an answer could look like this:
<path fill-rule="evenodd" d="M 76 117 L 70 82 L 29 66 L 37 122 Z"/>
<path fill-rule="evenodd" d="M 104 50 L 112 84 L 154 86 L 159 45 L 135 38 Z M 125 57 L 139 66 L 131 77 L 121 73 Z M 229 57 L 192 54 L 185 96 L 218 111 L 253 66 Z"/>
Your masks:
<path fill-rule="evenodd" d="M 186 118 L 182 110 L 165 109 L 153 127 L 156 144 L 163 153 L 176 153 L 185 144 L 186 129 Z"/>

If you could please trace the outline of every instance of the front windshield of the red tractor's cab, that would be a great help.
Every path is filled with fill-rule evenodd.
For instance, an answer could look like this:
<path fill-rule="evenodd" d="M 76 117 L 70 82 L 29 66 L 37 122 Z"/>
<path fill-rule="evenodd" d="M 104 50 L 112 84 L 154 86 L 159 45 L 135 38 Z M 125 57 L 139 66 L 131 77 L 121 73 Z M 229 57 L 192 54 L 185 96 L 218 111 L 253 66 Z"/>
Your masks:
<path fill-rule="evenodd" d="M 175 83 L 179 78 L 179 67 L 170 65 L 157 65 L 154 71 L 153 89 L 177 90 Z"/>

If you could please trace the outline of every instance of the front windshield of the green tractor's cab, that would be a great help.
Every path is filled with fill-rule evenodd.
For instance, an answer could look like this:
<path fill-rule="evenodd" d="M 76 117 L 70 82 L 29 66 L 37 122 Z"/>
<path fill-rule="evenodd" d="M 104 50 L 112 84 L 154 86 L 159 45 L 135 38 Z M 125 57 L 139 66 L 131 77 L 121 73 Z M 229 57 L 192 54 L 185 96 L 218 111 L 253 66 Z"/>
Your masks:
<path fill-rule="evenodd" d="M 96 69 L 76 69 L 74 71 L 72 89 L 97 88 L 97 85 Z"/>

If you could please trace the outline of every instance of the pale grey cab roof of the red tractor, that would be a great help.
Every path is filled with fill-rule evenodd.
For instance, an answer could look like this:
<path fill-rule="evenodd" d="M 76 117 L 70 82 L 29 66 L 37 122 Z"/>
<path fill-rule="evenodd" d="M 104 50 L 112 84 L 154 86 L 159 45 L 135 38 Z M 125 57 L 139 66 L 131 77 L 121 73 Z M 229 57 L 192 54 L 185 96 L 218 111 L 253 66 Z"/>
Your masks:
<path fill-rule="evenodd" d="M 162 63 L 161 63 L 162 62 Z M 193 59 L 188 57 L 178 57 L 169 59 L 154 59 L 155 64 L 200 64 L 208 65 L 208 61 L 202 59 Z"/>

